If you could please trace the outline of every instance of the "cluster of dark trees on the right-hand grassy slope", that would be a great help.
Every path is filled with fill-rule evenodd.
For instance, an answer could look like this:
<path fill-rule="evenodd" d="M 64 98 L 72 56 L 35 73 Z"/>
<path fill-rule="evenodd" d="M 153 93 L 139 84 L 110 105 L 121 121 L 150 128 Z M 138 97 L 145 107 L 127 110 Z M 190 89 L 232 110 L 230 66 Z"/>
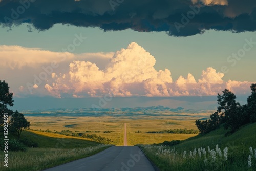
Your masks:
<path fill-rule="evenodd" d="M 225 89 L 222 95 L 218 94 L 217 111 L 210 115 L 209 120 L 196 120 L 196 126 L 201 134 L 206 134 L 224 125 L 228 133 L 236 132 L 239 127 L 250 122 L 256 122 L 256 84 L 251 84 L 251 95 L 247 104 L 236 102 L 236 95 Z"/>

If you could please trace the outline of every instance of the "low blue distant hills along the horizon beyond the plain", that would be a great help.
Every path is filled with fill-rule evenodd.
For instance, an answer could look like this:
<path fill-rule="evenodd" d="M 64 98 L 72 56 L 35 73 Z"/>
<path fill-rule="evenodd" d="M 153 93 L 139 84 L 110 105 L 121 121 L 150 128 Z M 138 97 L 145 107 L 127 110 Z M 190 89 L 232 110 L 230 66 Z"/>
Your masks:
<path fill-rule="evenodd" d="M 74 108 L 48 110 L 22 110 L 25 116 L 168 116 L 210 113 L 212 110 L 189 110 L 182 107 L 169 108 L 166 106 L 135 107 L 135 108 Z"/>

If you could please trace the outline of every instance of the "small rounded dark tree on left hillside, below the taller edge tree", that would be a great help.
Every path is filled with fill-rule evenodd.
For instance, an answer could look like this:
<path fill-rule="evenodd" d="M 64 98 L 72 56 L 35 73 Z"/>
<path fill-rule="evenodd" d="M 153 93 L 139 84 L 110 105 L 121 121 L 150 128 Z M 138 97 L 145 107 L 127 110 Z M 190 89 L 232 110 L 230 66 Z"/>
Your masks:
<path fill-rule="evenodd" d="M 17 134 L 18 139 L 20 134 L 22 134 L 22 131 L 30 126 L 30 122 L 28 122 L 24 115 L 19 113 L 17 110 L 12 114 L 9 124 L 10 130 L 14 134 Z"/>

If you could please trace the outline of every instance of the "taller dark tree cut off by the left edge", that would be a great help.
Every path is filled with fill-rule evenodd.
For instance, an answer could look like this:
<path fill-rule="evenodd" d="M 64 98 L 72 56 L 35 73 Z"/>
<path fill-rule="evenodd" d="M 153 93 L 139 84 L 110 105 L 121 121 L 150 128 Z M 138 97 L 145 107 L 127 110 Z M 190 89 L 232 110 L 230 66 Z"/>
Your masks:
<path fill-rule="evenodd" d="M 9 92 L 8 83 L 5 80 L 2 82 L 0 80 L 0 125 L 4 124 L 4 114 L 7 113 L 8 116 L 11 116 L 13 111 L 7 108 L 7 105 L 13 106 L 12 95 L 13 93 Z"/>

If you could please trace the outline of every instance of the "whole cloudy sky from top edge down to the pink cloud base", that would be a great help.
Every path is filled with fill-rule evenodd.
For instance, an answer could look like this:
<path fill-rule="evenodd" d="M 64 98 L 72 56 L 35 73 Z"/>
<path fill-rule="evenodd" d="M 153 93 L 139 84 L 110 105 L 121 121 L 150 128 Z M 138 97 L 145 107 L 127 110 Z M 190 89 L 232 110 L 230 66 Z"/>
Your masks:
<path fill-rule="evenodd" d="M 256 82 L 254 0 L 2 0 L 0 24 L 15 98 L 245 95 Z"/>

